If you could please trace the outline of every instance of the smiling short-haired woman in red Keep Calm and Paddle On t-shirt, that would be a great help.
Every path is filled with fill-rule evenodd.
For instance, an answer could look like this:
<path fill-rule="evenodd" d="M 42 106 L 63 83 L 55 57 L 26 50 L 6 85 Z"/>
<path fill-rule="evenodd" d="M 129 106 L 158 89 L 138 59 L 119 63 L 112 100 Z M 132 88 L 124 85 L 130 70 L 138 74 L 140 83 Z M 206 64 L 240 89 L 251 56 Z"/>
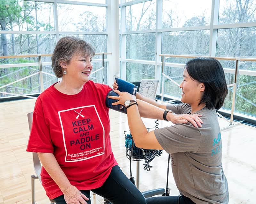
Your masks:
<path fill-rule="evenodd" d="M 36 100 L 27 151 L 38 153 L 42 185 L 57 204 L 90 204 L 90 190 L 112 203 L 145 204 L 111 150 L 105 99 L 112 89 L 89 80 L 93 56 L 84 40 L 58 41 L 52 68 L 62 80 Z"/>

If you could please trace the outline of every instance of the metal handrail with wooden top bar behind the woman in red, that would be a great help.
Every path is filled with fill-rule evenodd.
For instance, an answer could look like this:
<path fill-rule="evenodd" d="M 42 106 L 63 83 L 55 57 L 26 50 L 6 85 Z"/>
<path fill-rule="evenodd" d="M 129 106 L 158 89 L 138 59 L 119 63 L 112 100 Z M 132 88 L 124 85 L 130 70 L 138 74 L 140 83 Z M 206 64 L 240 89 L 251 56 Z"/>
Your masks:
<path fill-rule="evenodd" d="M 101 68 L 99 68 L 99 69 L 97 69 L 97 70 L 95 70 L 94 72 L 92 72 L 92 74 L 94 74 L 94 73 L 96 73 L 96 72 L 98 72 L 98 71 L 100 71 L 100 70 L 102 70 L 102 69 L 104 69 L 104 55 L 111 55 L 112 53 L 104 53 L 104 52 L 102 52 L 102 53 L 95 53 L 95 55 L 102 55 L 102 67 Z M 45 56 L 52 56 L 52 54 L 38 54 L 38 55 L 16 55 L 16 56 L 0 56 L 0 59 L 7 59 L 7 58 L 22 58 L 22 57 L 37 57 L 38 58 L 38 62 L 36 62 L 36 65 L 38 64 L 38 69 L 39 69 L 39 71 L 38 72 L 36 72 L 36 73 L 34 73 L 34 74 L 31 74 L 31 75 L 28 75 L 28 76 L 26 76 L 26 77 L 23 77 L 23 78 L 21 78 L 21 79 L 18 79 L 18 80 L 16 80 L 16 81 L 14 81 L 14 82 L 11 82 L 11 83 L 9 83 L 9 84 L 5 84 L 5 85 L 2 85 L 2 86 L 0 86 L 0 89 L 1 88 L 4 88 L 4 87 L 6 87 L 6 86 L 9 86 L 9 85 L 12 85 L 12 84 L 14 84 L 14 83 L 16 83 L 16 82 L 19 82 L 19 81 L 22 81 L 22 80 L 24 80 L 24 79 L 26 79 L 26 78 L 29 78 L 29 77 L 32 77 L 32 76 L 35 76 L 35 75 L 38 75 L 39 74 L 39 78 L 40 78 L 40 88 L 41 88 L 41 92 L 43 92 L 44 91 L 44 81 L 43 81 L 43 74 L 47 74 L 47 75 L 50 75 L 50 76 L 54 76 L 54 75 L 52 75 L 52 74 L 50 74 L 50 73 L 47 73 L 47 72 L 44 72 L 43 70 L 42 70 L 42 57 L 45 57 Z M 18 65 L 18 64 L 17 64 Z M 104 84 L 104 74 L 102 75 L 102 83 Z M 28 96 L 28 95 L 20 95 L 20 94 L 14 94 L 14 93 L 10 93 L 10 92 L 5 92 L 5 91 L 0 91 L 0 93 L 3 93 L 3 94 L 9 94 L 9 95 L 15 95 L 15 96 L 22 96 L 22 97 L 26 97 L 26 98 L 34 98 L 34 97 L 31 97 L 31 96 Z"/>

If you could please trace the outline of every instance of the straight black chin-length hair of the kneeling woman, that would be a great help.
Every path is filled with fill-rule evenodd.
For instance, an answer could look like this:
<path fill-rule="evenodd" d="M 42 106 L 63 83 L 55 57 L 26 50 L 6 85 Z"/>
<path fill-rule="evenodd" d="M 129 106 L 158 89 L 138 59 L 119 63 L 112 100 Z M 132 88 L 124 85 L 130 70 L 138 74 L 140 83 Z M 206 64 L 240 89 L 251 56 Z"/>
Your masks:
<path fill-rule="evenodd" d="M 195 58 L 186 63 L 189 76 L 204 84 L 204 94 L 198 105 L 219 110 L 228 94 L 224 70 L 214 58 Z"/>

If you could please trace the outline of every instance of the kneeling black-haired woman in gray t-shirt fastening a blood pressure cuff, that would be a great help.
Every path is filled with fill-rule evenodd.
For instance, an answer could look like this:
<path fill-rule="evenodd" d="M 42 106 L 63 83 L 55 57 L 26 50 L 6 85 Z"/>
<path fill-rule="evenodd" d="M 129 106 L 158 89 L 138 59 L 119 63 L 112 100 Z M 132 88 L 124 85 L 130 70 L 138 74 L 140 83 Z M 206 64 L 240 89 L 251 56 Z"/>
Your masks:
<path fill-rule="evenodd" d="M 117 89 L 118 84 L 114 84 L 114 88 Z M 136 100 L 127 109 L 127 117 L 137 147 L 164 149 L 172 157 L 172 173 L 180 195 L 148 198 L 147 204 L 226 204 L 228 183 L 222 169 L 222 142 L 216 111 L 223 105 L 228 89 L 220 62 L 213 58 L 190 60 L 180 88 L 183 103 L 178 105 L 157 105 L 140 94 L 135 98 L 120 91 L 116 91 L 119 96 L 108 96 L 118 100 L 112 105 Z M 157 110 L 140 99 L 171 111 Z M 188 122 L 148 132 L 140 117 L 154 115 L 156 111 L 162 113 L 162 118 L 173 113 L 201 114 L 203 127 L 196 128 Z"/>

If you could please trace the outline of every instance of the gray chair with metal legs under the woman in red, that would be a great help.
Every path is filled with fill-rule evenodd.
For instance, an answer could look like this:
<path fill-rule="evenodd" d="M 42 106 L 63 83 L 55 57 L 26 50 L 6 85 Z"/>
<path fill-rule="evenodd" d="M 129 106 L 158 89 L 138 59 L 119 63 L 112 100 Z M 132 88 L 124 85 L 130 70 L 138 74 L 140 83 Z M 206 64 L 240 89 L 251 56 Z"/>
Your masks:
<path fill-rule="evenodd" d="M 33 120 L 33 112 L 28 113 L 28 126 L 29 126 L 29 131 L 31 131 L 31 126 L 32 126 L 32 120 Z M 40 183 L 42 183 L 41 181 L 41 162 L 39 160 L 39 157 L 37 155 L 36 152 L 32 152 L 33 154 L 33 164 L 34 164 L 34 169 L 36 172 L 36 175 L 32 174 L 31 175 L 31 200 L 32 200 L 32 204 L 36 204 L 35 201 L 35 179 L 38 179 L 40 181 Z M 54 200 L 49 199 L 50 200 L 50 204 L 54 204 Z"/>

